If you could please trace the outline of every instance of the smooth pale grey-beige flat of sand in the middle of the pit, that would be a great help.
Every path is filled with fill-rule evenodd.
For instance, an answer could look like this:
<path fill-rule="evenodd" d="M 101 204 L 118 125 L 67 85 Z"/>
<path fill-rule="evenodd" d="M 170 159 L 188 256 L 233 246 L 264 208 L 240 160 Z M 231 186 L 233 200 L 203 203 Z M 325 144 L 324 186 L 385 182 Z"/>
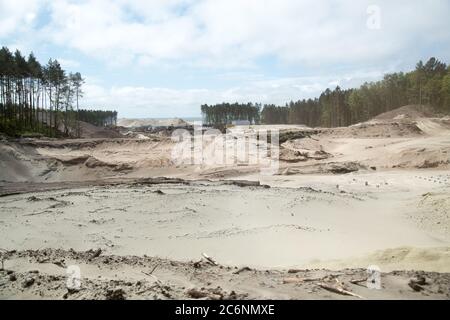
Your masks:
<path fill-rule="evenodd" d="M 450 194 L 449 174 L 302 180 L 263 181 L 271 188 L 197 182 L 12 195 L 0 199 L 2 247 L 100 247 L 177 260 L 208 252 L 224 264 L 264 268 L 330 268 L 331 260 L 354 266 L 353 258 L 377 250 L 431 248 L 436 258 L 421 261 L 421 269 L 450 271 L 448 201 L 442 196 Z M 298 184 L 303 187 L 293 187 Z M 402 269 L 416 267 L 414 259 L 402 263 Z"/>

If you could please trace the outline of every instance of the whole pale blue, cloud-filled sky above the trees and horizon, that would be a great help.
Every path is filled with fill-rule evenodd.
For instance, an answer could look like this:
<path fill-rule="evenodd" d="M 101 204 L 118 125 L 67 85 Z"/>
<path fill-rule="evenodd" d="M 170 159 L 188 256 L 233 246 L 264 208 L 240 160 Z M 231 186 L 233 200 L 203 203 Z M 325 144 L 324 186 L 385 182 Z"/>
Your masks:
<path fill-rule="evenodd" d="M 85 78 L 81 105 L 197 117 L 450 62 L 450 1 L 0 0 L 0 45 Z"/>

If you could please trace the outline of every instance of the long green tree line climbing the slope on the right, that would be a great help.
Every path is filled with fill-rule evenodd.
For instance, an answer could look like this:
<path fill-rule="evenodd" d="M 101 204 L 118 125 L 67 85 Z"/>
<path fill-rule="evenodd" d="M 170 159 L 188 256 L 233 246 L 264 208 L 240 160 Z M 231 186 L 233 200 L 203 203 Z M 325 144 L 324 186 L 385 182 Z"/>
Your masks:
<path fill-rule="evenodd" d="M 450 113 L 450 66 L 430 58 L 419 61 L 410 72 L 384 75 L 376 82 L 343 90 L 326 89 L 315 99 L 291 101 L 284 106 L 264 105 L 261 121 L 266 124 L 305 124 L 339 127 L 370 118 L 408 104 L 428 105 Z"/>

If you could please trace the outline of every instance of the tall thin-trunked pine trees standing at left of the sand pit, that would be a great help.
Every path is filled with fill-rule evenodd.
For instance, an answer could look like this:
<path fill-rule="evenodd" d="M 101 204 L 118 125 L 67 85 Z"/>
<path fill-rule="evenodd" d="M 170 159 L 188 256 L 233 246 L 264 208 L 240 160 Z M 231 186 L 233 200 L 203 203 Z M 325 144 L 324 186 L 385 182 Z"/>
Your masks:
<path fill-rule="evenodd" d="M 80 110 L 84 79 L 67 73 L 57 60 L 42 65 L 30 53 L 0 49 L 0 132 L 48 136 L 80 135 L 79 121 L 113 124 L 115 111 Z M 113 115 L 114 114 L 114 115 Z"/>

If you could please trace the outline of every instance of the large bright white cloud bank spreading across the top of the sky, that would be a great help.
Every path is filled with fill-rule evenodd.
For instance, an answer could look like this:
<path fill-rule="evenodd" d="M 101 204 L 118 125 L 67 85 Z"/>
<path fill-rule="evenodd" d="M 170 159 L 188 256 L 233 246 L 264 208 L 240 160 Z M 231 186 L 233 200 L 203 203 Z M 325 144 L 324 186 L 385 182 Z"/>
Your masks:
<path fill-rule="evenodd" d="M 46 34 L 105 61 L 237 66 L 271 55 L 310 65 L 364 62 L 449 42 L 445 0 L 378 1 L 381 28 L 367 28 L 370 1 L 53 1 Z M 183 9 L 184 8 L 184 9 Z M 183 9 L 183 10 L 182 10 Z M 440 32 L 435 32 L 440 30 Z M 117 60 L 117 61 L 114 61 Z"/>

